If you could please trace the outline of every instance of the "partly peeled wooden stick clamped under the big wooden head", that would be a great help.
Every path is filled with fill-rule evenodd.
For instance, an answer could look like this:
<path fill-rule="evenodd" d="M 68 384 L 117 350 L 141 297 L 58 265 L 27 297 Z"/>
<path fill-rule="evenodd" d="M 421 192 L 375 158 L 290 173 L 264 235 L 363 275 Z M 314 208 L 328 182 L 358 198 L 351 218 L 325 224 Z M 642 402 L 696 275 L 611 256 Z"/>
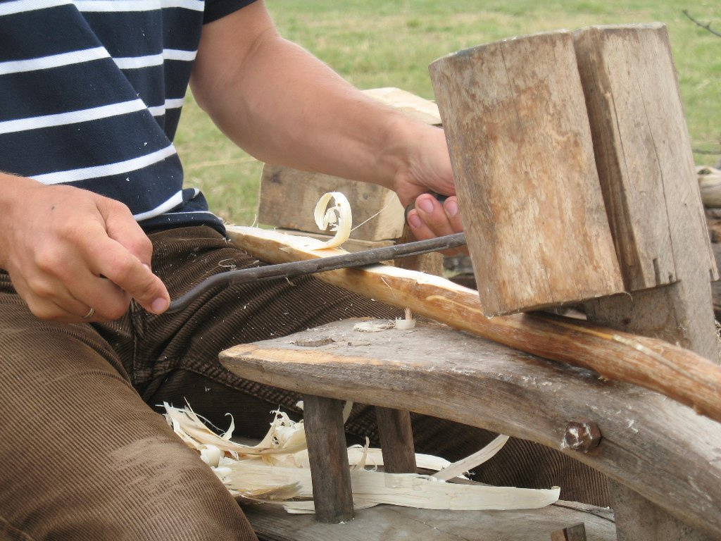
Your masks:
<path fill-rule="evenodd" d="M 342 250 L 311 251 L 295 237 L 253 227 L 231 226 L 231 239 L 267 263 L 337 255 Z M 721 422 L 721 366 L 663 340 L 622 333 L 582 320 L 534 313 L 482 314 L 477 291 L 438 276 L 374 265 L 317 275 L 354 291 L 451 327 L 526 353 L 583 366 L 607 379 L 629 382 L 678 400 Z"/>

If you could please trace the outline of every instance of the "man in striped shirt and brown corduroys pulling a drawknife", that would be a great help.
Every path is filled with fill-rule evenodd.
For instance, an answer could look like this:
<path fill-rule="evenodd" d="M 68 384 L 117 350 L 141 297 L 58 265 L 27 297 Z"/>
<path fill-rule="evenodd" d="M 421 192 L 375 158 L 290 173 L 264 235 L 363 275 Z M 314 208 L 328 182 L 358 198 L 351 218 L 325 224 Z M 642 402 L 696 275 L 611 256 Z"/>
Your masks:
<path fill-rule="evenodd" d="M 442 131 L 280 38 L 262 0 L 5 1 L 0 43 L 0 538 L 254 539 L 149 405 L 188 400 L 260 435 L 295 397 L 233 377 L 218 351 L 393 311 L 306 277 L 163 315 L 221 263 L 256 264 L 182 186 L 172 137 L 188 79 L 258 159 L 415 201 L 421 239 L 461 229 Z M 363 435 L 368 411 L 353 423 Z M 447 439 L 447 424 L 433 431 Z"/>

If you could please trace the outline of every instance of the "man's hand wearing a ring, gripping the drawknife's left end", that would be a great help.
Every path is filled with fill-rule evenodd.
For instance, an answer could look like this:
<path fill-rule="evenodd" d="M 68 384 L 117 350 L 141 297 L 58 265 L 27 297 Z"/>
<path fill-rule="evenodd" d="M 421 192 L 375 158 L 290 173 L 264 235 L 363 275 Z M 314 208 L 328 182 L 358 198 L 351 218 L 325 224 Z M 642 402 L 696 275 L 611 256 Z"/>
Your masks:
<path fill-rule="evenodd" d="M 0 181 L 0 268 L 35 316 L 111 321 L 133 298 L 149 312 L 167 309 L 167 289 L 150 268 L 150 239 L 127 206 L 4 173 Z"/>

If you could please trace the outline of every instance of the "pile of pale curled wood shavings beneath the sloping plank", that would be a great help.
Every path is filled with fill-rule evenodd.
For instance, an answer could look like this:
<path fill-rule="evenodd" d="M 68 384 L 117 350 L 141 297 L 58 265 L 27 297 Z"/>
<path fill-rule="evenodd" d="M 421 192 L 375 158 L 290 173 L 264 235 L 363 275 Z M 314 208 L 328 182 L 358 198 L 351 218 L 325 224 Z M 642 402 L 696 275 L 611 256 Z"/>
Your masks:
<path fill-rule="evenodd" d="M 231 441 L 234 423 L 218 435 L 190 406 L 164 404 L 165 417 L 182 441 L 198 450 L 229 492 L 239 501 L 276 503 L 290 513 L 313 513 L 311 475 L 303 421 L 275 411 L 265 438 L 255 446 Z M 350 408 L 346 408 L 349 411 Z M 451 464 L 428 454 L 416 454 L 417 465 L 433 475 L 384 473 L 380 449 L 348 448 L 355 509 L 389 503 L 420 509 L 482 510 L 537 509 L 554 503 L 560 489 L 496 487 L 448 483 L 493 457 L 507 436 L 499 436 L 467 459 Z"/>

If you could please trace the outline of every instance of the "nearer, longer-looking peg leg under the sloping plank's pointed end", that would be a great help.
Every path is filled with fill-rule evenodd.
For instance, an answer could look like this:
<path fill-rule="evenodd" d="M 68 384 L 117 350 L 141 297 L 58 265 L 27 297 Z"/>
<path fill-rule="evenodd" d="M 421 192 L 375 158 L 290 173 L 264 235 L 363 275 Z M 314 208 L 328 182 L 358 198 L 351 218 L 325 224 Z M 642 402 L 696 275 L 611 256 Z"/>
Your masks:
<path fill-rule="evenodd" d="M 303 411 L 316 519 L 327 524 L 353 520 L 343 404 L 335 398 L 304 395 Z"/>

